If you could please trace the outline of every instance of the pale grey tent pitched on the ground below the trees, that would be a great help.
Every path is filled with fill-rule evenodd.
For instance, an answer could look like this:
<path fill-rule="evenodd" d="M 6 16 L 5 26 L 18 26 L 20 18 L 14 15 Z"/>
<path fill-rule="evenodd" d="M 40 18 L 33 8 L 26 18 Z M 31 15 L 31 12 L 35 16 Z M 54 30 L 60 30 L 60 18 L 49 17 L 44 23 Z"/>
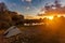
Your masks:
<path fill-rule="evenodd" d="M 20 33 L 22 33 L 22 31 L 16 26 L 12 26 L 4 32 L 4 37 L 10 38 Z"/>

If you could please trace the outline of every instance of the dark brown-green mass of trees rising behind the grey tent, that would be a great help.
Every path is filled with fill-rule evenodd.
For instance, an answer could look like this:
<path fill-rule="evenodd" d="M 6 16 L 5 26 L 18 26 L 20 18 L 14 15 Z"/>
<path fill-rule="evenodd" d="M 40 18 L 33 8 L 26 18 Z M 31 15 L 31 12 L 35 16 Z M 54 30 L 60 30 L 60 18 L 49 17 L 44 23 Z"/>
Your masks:
<path fill-rule="evenodd" d="M 6 29 L 10 26 L 14 26 L 16 25 L 16 23 L 20 23 L 22 19 L 24 19 L 23 15 L 18 15 L 16 12 L 9 11 L 4 3 L 2 4 L 1 8 L 2 9 L 0 9 L 1 10 L 0 11 L 0 29 L 4 29 L 4 28 Z"/>

